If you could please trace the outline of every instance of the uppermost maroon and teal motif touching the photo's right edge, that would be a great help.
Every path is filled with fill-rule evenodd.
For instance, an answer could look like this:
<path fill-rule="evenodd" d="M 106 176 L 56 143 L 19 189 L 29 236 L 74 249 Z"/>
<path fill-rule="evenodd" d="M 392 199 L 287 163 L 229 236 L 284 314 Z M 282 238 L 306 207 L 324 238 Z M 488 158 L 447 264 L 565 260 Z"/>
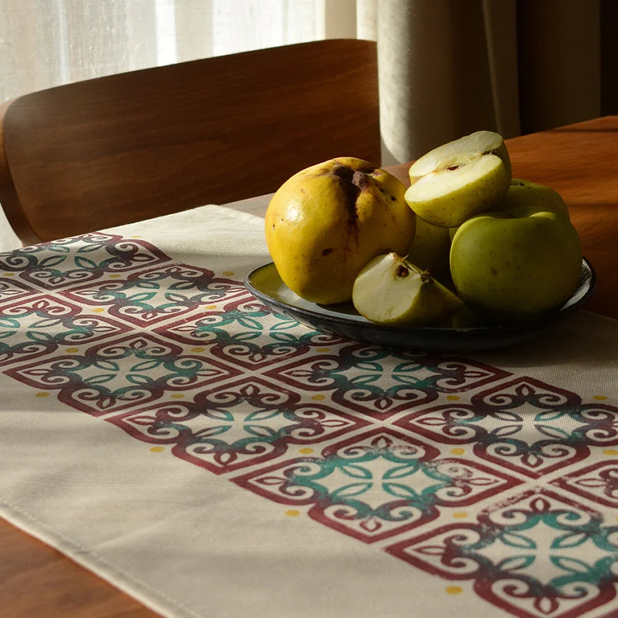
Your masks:
<path fill-rule="evenodd" d="M 540 477 L 618 444 L 618 409 L 582 404 L 575 393 L 517 378 L 477 393 L 470 404 L 413 412 L 394 424 L 445 444 L 474 444 L 494 464 Z"/>

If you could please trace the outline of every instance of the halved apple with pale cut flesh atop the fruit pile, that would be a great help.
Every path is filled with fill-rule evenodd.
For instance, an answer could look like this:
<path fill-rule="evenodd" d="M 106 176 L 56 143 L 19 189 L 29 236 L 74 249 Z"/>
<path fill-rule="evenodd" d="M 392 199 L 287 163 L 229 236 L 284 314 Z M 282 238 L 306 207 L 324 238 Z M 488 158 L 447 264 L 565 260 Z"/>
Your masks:
<path fill-rule="evenodd" d="M 506 195 L 511 165 L 502 136 L 477 131 L 434 148 L 409 174 L 405 198 L 411 209 L 432 225 L 458 227 Z"/>

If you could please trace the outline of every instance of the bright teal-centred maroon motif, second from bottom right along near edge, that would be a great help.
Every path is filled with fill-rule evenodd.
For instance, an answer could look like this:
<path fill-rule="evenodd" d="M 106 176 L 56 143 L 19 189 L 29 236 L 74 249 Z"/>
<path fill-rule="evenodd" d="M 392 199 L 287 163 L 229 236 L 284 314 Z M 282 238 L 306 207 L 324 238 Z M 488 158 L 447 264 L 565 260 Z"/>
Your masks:
<path fill-rule="evenodd" d="M 435 520 L 439 507 L 470 505 L 520 483 L 470 461 L 442 458 L 434 446 L 388 428 L 232 480 L 275 502 L 310 505 L 314 520 L 367 543 Z"/>

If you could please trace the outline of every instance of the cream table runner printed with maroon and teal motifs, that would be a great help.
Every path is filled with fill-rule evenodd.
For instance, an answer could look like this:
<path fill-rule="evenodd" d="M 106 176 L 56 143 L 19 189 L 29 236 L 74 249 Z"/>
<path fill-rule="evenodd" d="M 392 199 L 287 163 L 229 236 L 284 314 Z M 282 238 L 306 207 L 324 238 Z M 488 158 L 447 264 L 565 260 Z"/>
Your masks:
<path fill-rule="evenodd" d="M 244 288 L 262 225 L 0 255 L 3 516 L 170 616 L 618 615 L 618 323 L 334 339 Z"/>

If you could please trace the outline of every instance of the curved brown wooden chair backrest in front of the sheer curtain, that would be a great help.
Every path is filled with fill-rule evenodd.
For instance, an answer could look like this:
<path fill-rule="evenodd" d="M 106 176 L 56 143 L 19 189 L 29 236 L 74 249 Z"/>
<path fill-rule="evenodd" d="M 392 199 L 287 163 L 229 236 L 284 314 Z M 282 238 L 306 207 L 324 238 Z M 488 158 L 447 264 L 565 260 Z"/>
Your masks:
<path fill-rule="evenodd" d="M 371 41 L 181 62 L 0 108 L 0 203 L 25 243 L 270 193 L 343 156 L 380 164 Z"/>

